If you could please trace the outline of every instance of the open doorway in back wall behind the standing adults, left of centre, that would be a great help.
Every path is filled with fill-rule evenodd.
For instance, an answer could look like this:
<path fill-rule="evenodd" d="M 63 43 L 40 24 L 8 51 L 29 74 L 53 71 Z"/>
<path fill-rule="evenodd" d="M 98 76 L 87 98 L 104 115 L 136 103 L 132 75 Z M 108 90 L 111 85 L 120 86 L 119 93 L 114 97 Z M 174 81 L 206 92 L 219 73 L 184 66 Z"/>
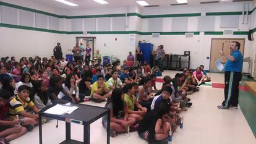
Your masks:
<path fill-rule="evenodd" d="M 90 57 L 90 60 L 93 59 L 94 53 L 95 53 L 95 49 L 96 49 L 96 37 L 76 37 L 76 41 L 77 43 L 82 43 L 83 46 L 86 48 L 87 44 L 90 44 L 90 48 L 92 48 L 92 54 Z M 85 59 L 85 54 L 83 54 L 83 59 Z"/>

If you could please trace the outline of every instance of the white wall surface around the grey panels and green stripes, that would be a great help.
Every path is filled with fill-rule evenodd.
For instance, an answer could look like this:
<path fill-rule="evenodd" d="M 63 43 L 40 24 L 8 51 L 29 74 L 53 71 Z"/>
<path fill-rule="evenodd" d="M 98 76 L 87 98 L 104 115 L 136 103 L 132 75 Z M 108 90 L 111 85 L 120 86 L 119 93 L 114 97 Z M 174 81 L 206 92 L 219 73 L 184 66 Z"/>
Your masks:
<path fill-rule="evenodd" d="M 172 7 L 169 8 L 147 8 L 141 9 L 137 6 L 129 7 L 113 7 L 101 8 L 101 9 L 80 9 L 80 10 L 63 10 L 56 9 L 54 7 L 44 6 L 37 2 L 21 0 L 19 2 L 14 0 L 2 0 L 10 4 L 15 4 L 23 7 L 29 7 L 32 9 L 50 12 L 58 15 L 77 16 L 77 15 L 103 15 L 103 14 L 124 14 L 124 13 L 139 13 L 141 15 L 162 15 L 162 14 L 192 14 L 200 13 L 205 15 L 206 12 L 237 12 L 243 11 L 244 4 L 223 4 L 223 5 L 205 5 L 205 6 L 186 6 L 186 7 Z M 250 11 L 256 6 L 255 1 L 250 4 Z M 1 12 L 1 11 L 0 11 Z M 239 15 L 239 27 L 238 28 L 220 28 L 221 15 L 215 17 L 214 32 L 223 32 L 224 29 L 232 29 L 234 31 L 247 32 L 249 29 L 256 27 L 256 15 L 255 11 L 249 15 L 249 24 L 242 25 L 242 15 Z M 18 18 L 19 19 L 19 18 Z M 98 19 L 98 18 L 96 18 Z M 161 19 L 161 18 L 160 18 Z M 163 18 L 163 28 L 161 32 L 172 32 L 172 17 Z M 111 18 L 112 20 L 112 18 Z M 198 17 L 188 17 L 187 19 L 187 32 L 198 32 Z M 98 21 L 98 20 L 96 20 Z M 18 20 L 19 22 L 19 20 Z M 137 31 L 149 32 L 148 27 L 149 19 L 142 19 L 137 16 L 127 17 L 127 27 L 124 31 Z M 84 24 L 78 28 L 77 31 L 83 32 Z M 97 31 L 96 22 L 96 31 Z M 109 30 L 113 29 L 112 22 L 110 22 Z M 17 23 L 19 25 L 19 23 Z M 72 19 L 59 19 L 59 31 L 72 32 Z M 109 32 L 110 33 L 110 32 Z M 195 69 L 198 65 L 205 65 L 205 69 L 209 69 L 210 60 L 207 59 L 210 56 L 211 38 L 245 38 L 245 51 L 244 57 L 250 56 L 255 60 L 256 44 L 255 41 L 248 41 L 247 35 L 204 35 L 200 32 L 200 35 L 194 35 L 193 38 L 186 38 L 185 35 L 160 35 L 160 38 L 152 38 L 151 35 L 135 35 L 135 43 L 130 44 L 129 35 L 126 34 L 94 34 L 87 36 L 96 37 L 96 49 L 100 49 L 102 56 L 119 57 L 121 60 L 126 59 L 129 51 L 135 52 L 135 47 L 138 45 L 139 40 L 145 40 L 148 43 L 156 46 L 163 44 L 166 53 L 168 54 L 183 54 L 184 51 L 190 51 L 191 64 L 190 68 Z M 255 33 L 254 33 L 255 35 Z M 85 36 L 82 34 L 61 34 L 61 33 L 49 33 L 38 32 L 34 30 L 20 30 L 19 28 L 6 28 L 0 27 L 0 56 L 51 56 L 53 54 L 53 47 L 59 41 L 62 44 L 62 51 L 64 54 L 70 54 L 68 49 L 72 49 L 75 45 L 76 36 Z M 115 40 L 117 38 L 117 41 Z M 107 46 L 104 46 L 104 44 Z M 247 72 L 248 66 L 244 65 L 244 71 Z M 254 68 L 252 69 L 254 70 Z"/>

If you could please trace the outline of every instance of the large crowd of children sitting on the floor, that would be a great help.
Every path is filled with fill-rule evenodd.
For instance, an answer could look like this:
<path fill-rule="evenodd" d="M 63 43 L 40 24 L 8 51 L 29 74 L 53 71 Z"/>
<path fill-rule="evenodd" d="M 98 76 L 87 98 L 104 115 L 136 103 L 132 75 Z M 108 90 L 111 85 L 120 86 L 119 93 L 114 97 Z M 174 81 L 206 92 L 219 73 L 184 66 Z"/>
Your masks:
<path fill-rule="evenodd" d="M 198 91 L 197 83 L 207 82 L 202 68 L 191 74 L 177 74 L 173 80 L 164 77 L 161 90 L 156 89 L 156 76 L 161 75 L 157 65 L 137 69 L 100 62 L 88 66 L 82 61 L 61 61 L 36 56 L 12 57 L 1 61 L 0 67 L 0 138 L 9 143 L 38 124 L 38 111 L 56 103 L 83 102 L 85 96 L 97 103 L 107 101 L 111 109 L 111 137 L 118 132 L 135 131 L 148 142 L 165 140 L 181 121 L 179 112 L 192 105 L 189 91 Z M 204 72 L 203 72 L 204 73 Z M 194 77 L 195 75 L 195 77 Z M 139 84 L 138 84 L 139 83 Z M 171 84 L 172 83 L 172 84 Z M 102 124 L 106 127 L 106 117 Z"/>

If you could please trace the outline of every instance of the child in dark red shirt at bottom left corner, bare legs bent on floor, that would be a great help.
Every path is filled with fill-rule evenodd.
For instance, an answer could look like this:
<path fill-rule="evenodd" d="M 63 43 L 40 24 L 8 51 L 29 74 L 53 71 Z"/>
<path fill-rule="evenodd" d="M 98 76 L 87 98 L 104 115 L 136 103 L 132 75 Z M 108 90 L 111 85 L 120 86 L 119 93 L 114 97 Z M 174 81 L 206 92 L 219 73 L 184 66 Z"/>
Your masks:
<path fill-rule="evenodd" d="M 9 110 L 9 91 L 0 92 L 0 143 L 6 144 L 11 140 L 24 135 L 27 132 L 25 127 L 20 125 L 20 119 L 16 117 L 13 121 L 9 121 L 7 112 Z"/>

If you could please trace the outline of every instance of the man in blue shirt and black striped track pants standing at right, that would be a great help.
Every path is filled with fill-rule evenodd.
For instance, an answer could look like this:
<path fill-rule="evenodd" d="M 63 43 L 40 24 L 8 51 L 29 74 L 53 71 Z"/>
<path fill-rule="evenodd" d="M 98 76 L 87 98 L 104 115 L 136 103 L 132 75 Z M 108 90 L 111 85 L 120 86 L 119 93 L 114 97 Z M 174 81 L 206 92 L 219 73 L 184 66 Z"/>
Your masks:
<path fill-rule="evenodd" d="M 240 43 L 233 41 L 230 44 L 231 54 L 225 54 L 220 51 L 220 55 L 228 59 L 227 62 L 222 62 L 225 65 L 225 89 L 223 103 L 218 106 L 219 109 L 228 109 L 229 106 L 237 109 L 238 95 L 239 95 L 239 82 L 242 79 L 242 62 L 243 57 L 240 49 Z"/>

